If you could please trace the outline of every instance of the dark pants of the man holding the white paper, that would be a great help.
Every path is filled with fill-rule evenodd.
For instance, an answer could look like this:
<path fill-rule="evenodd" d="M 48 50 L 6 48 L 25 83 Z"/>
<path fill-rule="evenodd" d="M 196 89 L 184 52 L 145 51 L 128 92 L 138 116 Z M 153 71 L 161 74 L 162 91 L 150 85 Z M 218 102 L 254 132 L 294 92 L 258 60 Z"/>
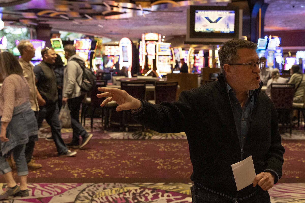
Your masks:
<path fill-rule="evenodd" d="M 245 199 L 229 199 L 213 192 L 208 192 L 196 185 L 192 186 L 192 203 L 271 203 L 268 191 L 258 191 Z"/>

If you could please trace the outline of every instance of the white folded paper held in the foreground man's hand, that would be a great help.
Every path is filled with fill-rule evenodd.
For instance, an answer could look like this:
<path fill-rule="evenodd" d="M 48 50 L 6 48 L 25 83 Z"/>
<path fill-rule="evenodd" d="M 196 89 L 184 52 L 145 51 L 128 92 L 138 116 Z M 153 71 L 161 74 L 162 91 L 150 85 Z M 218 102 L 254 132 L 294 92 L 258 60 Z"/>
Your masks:
<path fill-rule="evenodd" d="M 237 190 L 253 183 L 256 176 L 252 156 L 231 165 Z"/>

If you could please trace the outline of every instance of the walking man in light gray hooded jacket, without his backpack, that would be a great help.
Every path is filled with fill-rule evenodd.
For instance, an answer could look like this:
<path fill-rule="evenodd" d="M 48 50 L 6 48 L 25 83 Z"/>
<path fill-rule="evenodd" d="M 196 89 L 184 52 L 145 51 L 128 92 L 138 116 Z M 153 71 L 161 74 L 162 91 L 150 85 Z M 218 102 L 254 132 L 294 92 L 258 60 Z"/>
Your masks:
<path fill-rule="evenodd" d="M 88 144 L 92 134 L 88 134 L 79 122 L 79 110 L 85 92 L 81 91 L 83 78 L 84 60 L 76 54 L 75 47 L 67 44 L 64 47 L 67 65 L 63 73 L 63 105 L 68 104 L 71 115 L 71 126 L 73 128 L 72 142 L 66 145 L 71 148 L 82 148 Z M 81 66 L 82 65 L 82 66 Z M 84 66 L 83 66 L 84 67 Z M 82 144 L 79 144 L 79 136 L 82 137 Z"/>

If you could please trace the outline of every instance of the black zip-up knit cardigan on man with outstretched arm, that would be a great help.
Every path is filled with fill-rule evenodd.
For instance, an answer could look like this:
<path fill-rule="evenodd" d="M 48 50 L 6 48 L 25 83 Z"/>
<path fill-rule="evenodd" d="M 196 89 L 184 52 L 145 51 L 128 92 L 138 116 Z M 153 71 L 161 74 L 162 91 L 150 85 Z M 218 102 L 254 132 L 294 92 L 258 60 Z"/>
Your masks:
<path fill-rule="evenodd" d="M 252 155 L 256 174 L 270 171 L 274 183 L 282 176 L 284 147 L 278 131 L 278 114 L 270 98 L 256 89 L 255 106 L 243 147 L 243 158 Z M 184 131 L 193 165 L 191 180 L 208 191 L 229 199 L 244 199 L 260 186 L 237 192 L 231 164 L 241 161 L 241 146 L 224 75 L 218 81 L 183 91 L 178 101 L 143 108 L 134 118 L 160 133 Z"/>

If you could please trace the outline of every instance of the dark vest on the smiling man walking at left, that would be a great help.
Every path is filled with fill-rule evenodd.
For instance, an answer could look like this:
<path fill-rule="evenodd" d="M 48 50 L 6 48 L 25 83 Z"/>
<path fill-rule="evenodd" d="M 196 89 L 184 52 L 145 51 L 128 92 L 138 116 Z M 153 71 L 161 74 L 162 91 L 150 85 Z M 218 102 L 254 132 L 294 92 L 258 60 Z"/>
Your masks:
<path fill-rule="evenodd" d="M 36 86 L 45 102 L 55 103 L 57 95 L 56 75 L 52 67 L 49 67 L 44 61 L 41 61 L 37 66 L 41 67 L 44 77 L 39 79 Z"/>

